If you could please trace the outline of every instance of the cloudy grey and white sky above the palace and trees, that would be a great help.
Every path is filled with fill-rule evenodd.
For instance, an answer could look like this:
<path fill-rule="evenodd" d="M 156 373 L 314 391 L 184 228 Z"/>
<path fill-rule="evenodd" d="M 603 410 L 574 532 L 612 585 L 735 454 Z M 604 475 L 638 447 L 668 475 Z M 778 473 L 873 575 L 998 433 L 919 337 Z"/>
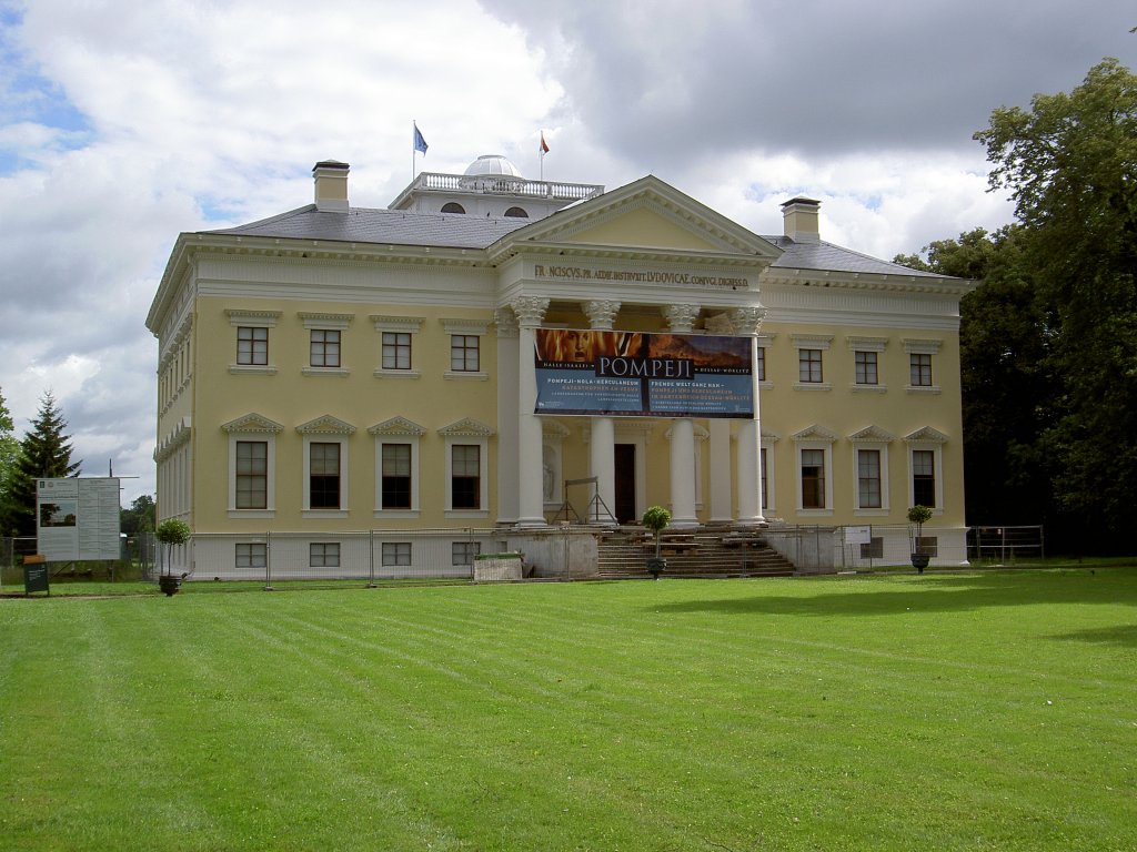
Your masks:
<path fill-rule="evenodd" d="M 385 207 L 504 153 L 613 189 L 654 174 L 760 234 L 890 259 L 1011 208 L 972 133 L 1137 67 L 1134 0 L 0 0 L 0 392 L 50 390 L 83 474 L 153 492 L 151 298 L 177 234 L 312 201 Z"/>

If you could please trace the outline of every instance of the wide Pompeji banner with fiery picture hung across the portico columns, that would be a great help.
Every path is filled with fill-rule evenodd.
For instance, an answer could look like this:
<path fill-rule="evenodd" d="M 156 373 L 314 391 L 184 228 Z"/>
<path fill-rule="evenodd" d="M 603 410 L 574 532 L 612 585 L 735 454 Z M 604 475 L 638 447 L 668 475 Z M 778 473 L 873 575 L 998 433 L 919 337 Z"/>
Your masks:
<path fill-rule="evenodd" d="M 754 416 L 750 339 L 534 329 L 539 415 Z"/>

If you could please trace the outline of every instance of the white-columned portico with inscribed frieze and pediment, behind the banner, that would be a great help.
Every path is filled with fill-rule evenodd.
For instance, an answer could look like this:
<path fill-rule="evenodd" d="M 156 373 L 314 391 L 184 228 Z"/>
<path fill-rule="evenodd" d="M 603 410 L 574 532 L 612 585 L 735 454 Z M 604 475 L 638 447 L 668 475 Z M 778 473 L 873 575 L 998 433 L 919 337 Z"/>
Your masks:
<path fill-rule="evenodd" d="M 583 516 L 594 493 L 598 498 L 595 506 L 603 509 L 591 523 L 633 521 L 647 506 L 662 504 L 678 529 L 763 524 L 756 377 L 753 417 L 561 417 L 566 437 L 558 454 L 542 445 L 548 416 L 534 414 L 534 332 L 745 335 L 753 364 L 765 314 L 757 281 L 778 249 L 647 177 L 534 223 L 495 250 L 503 258 L 495 314 L 498 524 L 532 528 L 553 520 L 542 487 L 553 456 L 558 502 L 566 495 Z M 633 442 L 620 437 L 630 426 Z M 564 492 L 565 481 L 591 477 L 594 493 Z"/>

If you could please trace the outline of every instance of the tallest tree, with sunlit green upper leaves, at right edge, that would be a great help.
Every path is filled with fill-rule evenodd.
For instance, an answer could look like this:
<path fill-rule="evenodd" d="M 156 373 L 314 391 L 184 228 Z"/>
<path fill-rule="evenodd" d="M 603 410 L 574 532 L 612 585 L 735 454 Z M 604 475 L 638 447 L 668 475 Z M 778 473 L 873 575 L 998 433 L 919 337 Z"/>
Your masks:
<path fill-rule="evenodd" d="M 1117 545 L 1137 503 L 1137 76 L 1105 59 L 1070 93 L 996 109 L 976 139 L 1051 312 L 1039 460 L 1067 519 Z"/>

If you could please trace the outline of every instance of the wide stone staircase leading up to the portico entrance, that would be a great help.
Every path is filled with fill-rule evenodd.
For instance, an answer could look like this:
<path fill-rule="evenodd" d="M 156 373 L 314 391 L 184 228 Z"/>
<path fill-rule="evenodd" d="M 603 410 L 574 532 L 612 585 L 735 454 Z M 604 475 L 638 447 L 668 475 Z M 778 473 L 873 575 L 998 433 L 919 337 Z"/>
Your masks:
<path fill-rule="evenodd" d="M 661 556 L 667 560 L 665 577 L 791 577 L 794 565 L 770 546 L 758 531 L 699 528 L 665 531 Z M 647 560 L 655 556 L 655 538 L 642 529 L 623 527 L 598 541 L 597 577 L 649 577 Z"/>

